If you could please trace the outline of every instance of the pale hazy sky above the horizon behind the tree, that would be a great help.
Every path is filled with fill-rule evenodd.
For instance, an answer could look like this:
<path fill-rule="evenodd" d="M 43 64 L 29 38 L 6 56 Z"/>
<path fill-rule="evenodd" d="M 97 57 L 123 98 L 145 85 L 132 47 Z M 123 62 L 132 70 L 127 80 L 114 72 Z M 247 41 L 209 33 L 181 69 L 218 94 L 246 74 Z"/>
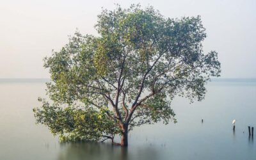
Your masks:
<path fill-rule="evenodd" d="M 164 16 L 202 16 L 204 51 L 219 52 L 221 77 L 256 77 L 256 1 L 0 0 L 0 78 L 47 78 L 42 59 L 76 28 L 96 35 L 101 8 L 154 6 Z"/>

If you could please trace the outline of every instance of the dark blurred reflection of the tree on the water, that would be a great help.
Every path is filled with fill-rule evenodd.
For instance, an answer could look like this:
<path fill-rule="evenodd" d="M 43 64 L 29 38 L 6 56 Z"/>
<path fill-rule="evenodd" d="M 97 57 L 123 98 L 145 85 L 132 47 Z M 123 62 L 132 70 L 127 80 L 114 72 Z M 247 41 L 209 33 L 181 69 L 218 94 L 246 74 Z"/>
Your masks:
<path fill-rule="evenodd" d="M 109 143 L 62 143 L 58 160 L 157 159 L 152 147 L 119 147 Z"/>

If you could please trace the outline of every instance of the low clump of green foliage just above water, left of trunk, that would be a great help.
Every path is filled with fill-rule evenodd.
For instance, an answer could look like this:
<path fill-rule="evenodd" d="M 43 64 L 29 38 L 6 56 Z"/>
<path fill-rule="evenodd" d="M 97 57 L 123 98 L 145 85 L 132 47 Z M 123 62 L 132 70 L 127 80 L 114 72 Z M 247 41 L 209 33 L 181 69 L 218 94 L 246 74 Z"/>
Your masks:
<path fill-rule="evenodd" d="M 106 108 L 99 111 L 88 108 L 68 106 L 60 108 L 50 105 L 44 99 L 42 108 L 35 108 L 36 123 L 49 127 L 52 134 L 60 134 L 61 141 L 98 141 L 104 134 L 118 134 L 120 129 L 113 120 L 104 114 Z"/>

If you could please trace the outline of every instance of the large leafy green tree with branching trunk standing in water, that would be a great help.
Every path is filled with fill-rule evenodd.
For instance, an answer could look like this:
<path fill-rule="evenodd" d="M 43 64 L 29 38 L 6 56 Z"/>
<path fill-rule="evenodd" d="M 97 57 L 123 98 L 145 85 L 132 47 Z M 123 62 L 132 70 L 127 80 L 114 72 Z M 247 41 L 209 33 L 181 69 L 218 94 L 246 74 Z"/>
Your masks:
<path fill-rule="evenodd" d="M 175 95 L 202 100 L 205 83 L 220 76 L 217 52 L 204 54 L 200 17 L 165 18 L 151 6 L 103 10 L 99 36 L 70 37 L 61 51 L 45 58 L 51 83 L 36 122 L 65 140 L 107 140 L 143 124 L 170 120 Z"/>

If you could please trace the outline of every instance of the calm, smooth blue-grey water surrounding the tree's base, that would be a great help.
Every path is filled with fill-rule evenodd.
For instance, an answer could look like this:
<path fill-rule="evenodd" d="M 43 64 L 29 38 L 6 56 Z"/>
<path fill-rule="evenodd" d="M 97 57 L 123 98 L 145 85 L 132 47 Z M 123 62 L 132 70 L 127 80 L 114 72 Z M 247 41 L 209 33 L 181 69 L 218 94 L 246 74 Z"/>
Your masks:
<path fill-rule="evenodd" d="M 1 160 L 256 159 L 256 140 L 248 136 L 248 125 L 256 127 L 255 79 L 212 81 L 202 102 L 189 104 L 177 97 L 173 109 L 178 123 L 134 129 L 128 148 L 108 143 L 60 144 L 46 127 L 35 125 L 32 108 L 39 105 L 37 97 L 45 97 L 44 81 L 0 80 Z M 234 118 L 236 132 L 232 131 Z"/>

